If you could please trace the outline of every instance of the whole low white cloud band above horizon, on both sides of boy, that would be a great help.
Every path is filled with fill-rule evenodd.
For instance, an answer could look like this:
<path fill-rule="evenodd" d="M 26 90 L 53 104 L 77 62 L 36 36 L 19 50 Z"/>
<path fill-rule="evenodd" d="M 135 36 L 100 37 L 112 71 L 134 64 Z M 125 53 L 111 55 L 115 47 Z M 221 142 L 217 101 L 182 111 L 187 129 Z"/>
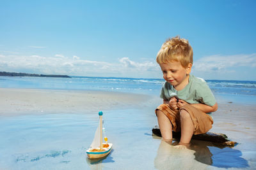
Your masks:
<path fill-rule="evenodd" d="M 141 59 L 140 59 L 141 60 Z M 196 60 L 193 73 L 205 79 L 255 79 L 256 54 L 212 55 Z M 250 69 L 250 71 L 248 71 Z M 0 52 L 0 71 L 68 74 L 70 76 L 123 76 L 142 78 L 162 78 L 161 70 L 154 60 L 140 62 L 123 57 L 116 62 L 85 60 L 65 57 L 61 54 L 52 57 L 40 55 L 5 54 Z"/>

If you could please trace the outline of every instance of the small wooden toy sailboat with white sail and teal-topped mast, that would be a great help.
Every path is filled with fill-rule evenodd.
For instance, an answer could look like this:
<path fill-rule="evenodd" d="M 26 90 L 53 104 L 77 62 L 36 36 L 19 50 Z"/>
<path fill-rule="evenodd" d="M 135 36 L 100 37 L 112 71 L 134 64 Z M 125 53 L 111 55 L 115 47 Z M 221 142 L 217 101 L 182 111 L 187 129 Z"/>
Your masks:
<path fill-rule="evenodd" d="M 105 135 L 104 135 L 104 140 L 106 143 L 102 143 L 102 131 L 105 134 L 105 129 L 102 128 L 102 115 L 103 113 L 102 111 L 100 111 L 99 126 L 97 128 L 97 131 L 95 132 L 94 139 L 92 141 L 92 144 L 90 145 L 90 148 L 86 150 L 87 157 L 89 159 L 98 159 L 98 158 L 105 157 L 112 150 L 112 143 L 108 143 L 108 138 Z"/>

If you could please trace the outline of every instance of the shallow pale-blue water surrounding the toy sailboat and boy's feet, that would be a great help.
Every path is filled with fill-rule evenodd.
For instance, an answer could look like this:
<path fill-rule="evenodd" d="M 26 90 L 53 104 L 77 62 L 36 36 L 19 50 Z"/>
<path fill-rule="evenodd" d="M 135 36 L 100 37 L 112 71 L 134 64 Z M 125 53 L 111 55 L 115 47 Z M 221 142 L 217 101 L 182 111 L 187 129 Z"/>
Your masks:
<path fill-rule="evenodd" d="M 243 140 L 234 148 L 196 140 L 190 150 L 173 148 L 151 135 L 157 120 L 149 109 L 104 111 L 104 127 L 113 150 L 104 159 L 89 160 L 85 150 L 98 120 L 97 113 L 1 117 L 0 169 L 255 167 L 255 146 Z"/>

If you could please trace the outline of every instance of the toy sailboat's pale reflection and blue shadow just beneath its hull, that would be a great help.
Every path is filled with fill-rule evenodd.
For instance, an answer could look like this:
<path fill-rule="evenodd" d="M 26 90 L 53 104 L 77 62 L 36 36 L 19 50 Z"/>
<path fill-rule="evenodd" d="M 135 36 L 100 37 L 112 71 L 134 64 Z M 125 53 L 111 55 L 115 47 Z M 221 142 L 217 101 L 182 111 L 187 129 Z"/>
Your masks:
<path fill-rule="evenodd" d="M 106 157 L 99 159 L 88 159 L 86 157 L 86 162 L 90 166 L 90 169 L 102 169 L 102 167 L 104 167 L 102 163 L 115 162 L 113 160 L 113 157 L 111 157 L 113 151 L 114 150 L 112 149 L 111 152 L 108 155 L 106 155 Z"/>

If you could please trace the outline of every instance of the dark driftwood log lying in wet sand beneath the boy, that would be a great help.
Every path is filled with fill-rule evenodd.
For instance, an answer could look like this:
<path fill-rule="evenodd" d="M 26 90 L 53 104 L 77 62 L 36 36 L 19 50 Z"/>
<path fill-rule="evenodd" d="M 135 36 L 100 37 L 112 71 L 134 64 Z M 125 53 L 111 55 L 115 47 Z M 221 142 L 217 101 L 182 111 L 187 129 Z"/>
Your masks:
<path fill-rule="evenodd" d="M 156 136 L 162 137 L 159 127 L 154 127 L 152 129 L 153 134 Z M 174 139 L 180 139 L 180 132 L 172 132 L 172 136 Z M 207 132 L 205 134 L 194 134 L 192 139 L 202 140 L 202 141 L 211 141 L 213 143 L 219 143 L 224 146 L 235 146 L 237 143 L 234 141 L 228 140 L 228 137 L 225 134 L 221 133 L 212 133 Z"/>

